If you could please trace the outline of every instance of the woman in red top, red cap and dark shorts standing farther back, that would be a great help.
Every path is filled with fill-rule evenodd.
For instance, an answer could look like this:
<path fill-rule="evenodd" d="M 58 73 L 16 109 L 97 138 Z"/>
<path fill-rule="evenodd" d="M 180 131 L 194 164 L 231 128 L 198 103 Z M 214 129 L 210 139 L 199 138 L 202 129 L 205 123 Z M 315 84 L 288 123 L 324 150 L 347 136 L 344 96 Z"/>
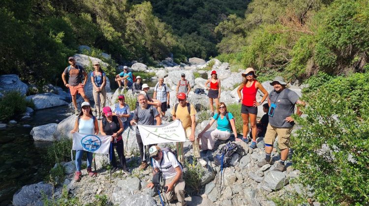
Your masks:
<path fill-rule="evenodd" d="M 208 87 L 208 83 L 210 82 L 210 88 Z M 212 71 L 212 78 L 208 79 L 205 82 L 205 87 L 208 92 L 209 103 L 210 103 L 210 110 L 212 111 L 212 116 L 214 116 L 214 106 L 213 106 L 213 99 L 215 99 L 216 108 L 219 105 L 220 99 L 220 80 L 216 75 L 216 71 Z"/>

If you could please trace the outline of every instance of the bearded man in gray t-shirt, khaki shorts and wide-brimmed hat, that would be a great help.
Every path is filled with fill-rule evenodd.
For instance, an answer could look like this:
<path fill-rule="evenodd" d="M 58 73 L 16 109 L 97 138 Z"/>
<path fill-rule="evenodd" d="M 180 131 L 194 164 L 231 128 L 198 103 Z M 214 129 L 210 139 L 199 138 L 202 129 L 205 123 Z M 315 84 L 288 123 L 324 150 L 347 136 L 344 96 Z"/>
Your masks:
<path fill-rule="evenodd" d="M 271 160 L 271 154 L 273 150 L 273 144 L 278 136 L 278 148 L 280 149 L 280 163 L 276 164 L 275 171 L 283 172 L 284 161 L 287 159 L 289 151 L 289 142 L 292 127 L 295 125 L 295 120 L 292 118 L 292 114 L 295 112 L 295 104 L 305 106 L 305 102 L 299 100 L 299 96 L 296 92 L 286 88 L 286 82 L 282 77 L 276 77 L 272 83 L 270 83 L 274 90 L 269 93 L 269 124 L 265 133 L 265 159 L 259 162 L 257 165 L 262 167 L 266 164 L 273 164 Z M 297 107 L 297 114 L 302 115 L 300 107 Z"/>

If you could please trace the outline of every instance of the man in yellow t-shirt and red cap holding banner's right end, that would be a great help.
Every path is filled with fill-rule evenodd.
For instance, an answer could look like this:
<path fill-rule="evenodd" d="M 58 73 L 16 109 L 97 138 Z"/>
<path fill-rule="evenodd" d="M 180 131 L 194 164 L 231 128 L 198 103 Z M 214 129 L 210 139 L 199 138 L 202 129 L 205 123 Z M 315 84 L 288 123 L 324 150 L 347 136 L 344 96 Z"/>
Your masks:
<path fill-rule="evenodd" d="M 193 156 L 195 158 L 199 158 L 200 157 L 199 142 L 195 138 L 195 128 L 196 128 L 195 107 L 192 104 L 186 102 L 187 99 L 185 93 L 182 92 L 178 94 L 177 98 L 179 103 L 177 103 L 172 109 L 172 119 L 181 120 L 186 138 L 192 142 L 194 153 Z M 180 161 L 182 164 L 184 163 L 183 144 L 184 142 L 176 142 L 178 161 Z"/>

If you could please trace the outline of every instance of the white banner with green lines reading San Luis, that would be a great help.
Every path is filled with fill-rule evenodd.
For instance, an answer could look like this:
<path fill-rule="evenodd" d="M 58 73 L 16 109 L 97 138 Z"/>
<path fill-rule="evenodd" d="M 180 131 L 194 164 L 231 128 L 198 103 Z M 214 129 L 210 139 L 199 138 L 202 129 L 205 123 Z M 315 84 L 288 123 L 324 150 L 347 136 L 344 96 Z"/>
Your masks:
<path fill-rule="evenodd" d="M 179 120 L 159 126 L 137 125 L 137 127 L 144 145 L 186 141 L 182 122 Z"/>

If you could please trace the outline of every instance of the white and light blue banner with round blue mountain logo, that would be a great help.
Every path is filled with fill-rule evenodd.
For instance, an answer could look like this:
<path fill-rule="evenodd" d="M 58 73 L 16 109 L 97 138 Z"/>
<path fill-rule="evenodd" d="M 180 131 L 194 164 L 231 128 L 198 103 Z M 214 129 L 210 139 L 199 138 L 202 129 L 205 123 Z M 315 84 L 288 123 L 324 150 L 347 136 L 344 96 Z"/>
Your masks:
<path fill-rule="evenodd" d="M 109 154 L 110 137 L 111 136 L 74 132 L 72 150 L 85 150 L 92 153 Z"/>

